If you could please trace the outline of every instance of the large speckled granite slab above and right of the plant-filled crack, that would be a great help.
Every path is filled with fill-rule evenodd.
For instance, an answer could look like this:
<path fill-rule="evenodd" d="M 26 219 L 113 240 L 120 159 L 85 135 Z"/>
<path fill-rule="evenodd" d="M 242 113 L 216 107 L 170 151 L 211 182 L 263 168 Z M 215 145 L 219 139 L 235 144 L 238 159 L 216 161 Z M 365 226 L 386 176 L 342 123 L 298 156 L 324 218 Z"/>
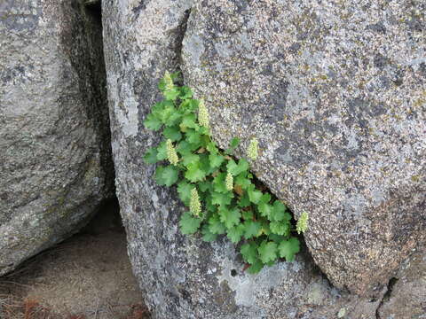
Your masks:
<path fill-rule="evenodd" d="M 424 1 L 203 0 L 182 58 L 213 135 L 299 216 L 337 287 L 375 295 L 426 227 Z"/>

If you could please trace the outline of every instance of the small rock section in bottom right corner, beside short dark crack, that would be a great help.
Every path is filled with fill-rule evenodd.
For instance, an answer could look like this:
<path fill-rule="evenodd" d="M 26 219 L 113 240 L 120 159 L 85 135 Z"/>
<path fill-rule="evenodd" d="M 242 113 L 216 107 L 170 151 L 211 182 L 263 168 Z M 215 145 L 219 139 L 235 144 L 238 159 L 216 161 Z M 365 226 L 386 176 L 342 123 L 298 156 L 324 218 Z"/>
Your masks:
<path fill-rule="evenodd" d="M 377 319 L 426 317 L 426 249 L 414 253 L 390 281 Z"/>

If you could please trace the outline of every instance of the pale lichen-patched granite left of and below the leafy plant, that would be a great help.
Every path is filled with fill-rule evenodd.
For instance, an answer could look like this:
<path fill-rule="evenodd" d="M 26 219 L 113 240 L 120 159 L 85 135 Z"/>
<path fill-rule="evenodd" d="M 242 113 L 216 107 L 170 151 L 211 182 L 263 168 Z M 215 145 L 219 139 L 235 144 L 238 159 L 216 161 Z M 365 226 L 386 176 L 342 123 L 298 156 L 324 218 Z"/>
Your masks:
<path fill-rule="evenodd" d="M 212 245 L 180 234 L 183 207 L 154 182 L 142 156 L 160 136 L 142 121 L 159 100 L 164 71 L 179 65 L 191 1 L 104 0 L 104 47 L 117 196 L 130 261 L 154 318 L 374 318 L 380 298 L 339 291 L 304 249 L 256 276 L 225 238 Z M 384 290 L 383 292 L 384 293 Z"/>

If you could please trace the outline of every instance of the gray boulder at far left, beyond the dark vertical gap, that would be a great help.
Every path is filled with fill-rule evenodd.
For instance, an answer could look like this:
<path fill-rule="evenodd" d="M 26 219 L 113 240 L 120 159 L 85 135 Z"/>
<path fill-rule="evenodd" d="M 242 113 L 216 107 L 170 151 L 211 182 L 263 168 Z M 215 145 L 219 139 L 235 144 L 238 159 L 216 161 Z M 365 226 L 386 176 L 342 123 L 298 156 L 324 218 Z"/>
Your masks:
<path fill-rule="evenodd" d="M 101 32 L 76 0 L 0 4 L 0 275 L 112 195 Z"/>

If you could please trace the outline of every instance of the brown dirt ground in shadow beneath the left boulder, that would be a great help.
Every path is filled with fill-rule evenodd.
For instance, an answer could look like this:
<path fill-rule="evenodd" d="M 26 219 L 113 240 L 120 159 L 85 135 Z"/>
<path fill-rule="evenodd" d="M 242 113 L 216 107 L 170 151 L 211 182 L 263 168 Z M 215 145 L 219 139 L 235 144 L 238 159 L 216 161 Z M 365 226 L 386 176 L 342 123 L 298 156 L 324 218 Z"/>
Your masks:
<path fill-rule="evenodd" d="M 109 207 L 111 208 L 111 207 Z M 147 319 L 118 213 L 0 277 L 0 319 Z"/>

